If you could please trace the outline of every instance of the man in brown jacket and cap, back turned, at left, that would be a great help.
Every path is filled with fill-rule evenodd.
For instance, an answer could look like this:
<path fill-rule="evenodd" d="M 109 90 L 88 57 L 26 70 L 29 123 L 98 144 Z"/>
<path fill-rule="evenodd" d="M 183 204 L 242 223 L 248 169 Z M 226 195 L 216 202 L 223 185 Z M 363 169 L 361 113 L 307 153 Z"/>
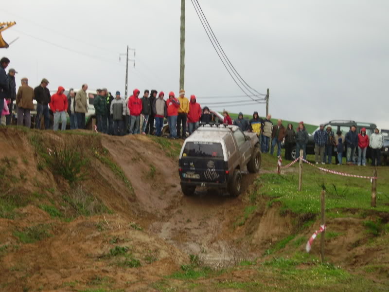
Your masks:
<path fill-rule="evenodd" d="M 18 106 L 18 126 L 31 127 L 30 110 L 34 110 L 34 89 L 28 85 L 26 77 L 21 78 L 21 86 L 16 95 L 16 105 Z"/>

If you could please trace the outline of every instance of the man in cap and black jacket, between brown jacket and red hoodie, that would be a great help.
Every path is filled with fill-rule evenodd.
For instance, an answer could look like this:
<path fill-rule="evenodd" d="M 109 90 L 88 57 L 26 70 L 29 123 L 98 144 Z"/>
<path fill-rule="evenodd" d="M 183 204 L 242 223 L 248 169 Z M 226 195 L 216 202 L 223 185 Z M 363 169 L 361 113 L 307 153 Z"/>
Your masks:
<path fill-rule="evenodd" d="M 49 89 L 47 88 L 48 84 L 49 81 L 46 78 L 43 78 L 40 82 L 40 85 L 34 89 L 34 98 L 37 102 L 35 117 L 36 129 L 40 129 L 40 120 L 42 114 L 45 121 L 45 129 L 47 130 L 50 127 L 49 103 L 51 102 L 51 95 Z"/>

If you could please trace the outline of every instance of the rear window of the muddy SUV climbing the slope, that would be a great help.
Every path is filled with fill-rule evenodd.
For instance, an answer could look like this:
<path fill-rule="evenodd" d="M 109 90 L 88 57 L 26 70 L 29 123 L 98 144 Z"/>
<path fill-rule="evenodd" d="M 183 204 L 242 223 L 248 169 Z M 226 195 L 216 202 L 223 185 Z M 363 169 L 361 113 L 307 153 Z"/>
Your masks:
<path fill-rule="evenodd" d="M 223 158 L 223 148 L 220 143 L 187 142 L 182 157 L 212 157 Z"/>

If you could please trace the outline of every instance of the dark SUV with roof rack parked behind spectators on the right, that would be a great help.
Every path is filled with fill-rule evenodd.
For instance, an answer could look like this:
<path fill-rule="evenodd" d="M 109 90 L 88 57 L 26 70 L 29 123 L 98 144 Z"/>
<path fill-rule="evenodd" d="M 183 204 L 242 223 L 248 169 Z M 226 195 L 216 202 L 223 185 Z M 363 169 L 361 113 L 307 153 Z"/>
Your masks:
<path fill-rule="evenodd" d="M 350 120 L 332 120 L 327 123 L 323 123 L 324 130 L 328 126 L 331 126 L 332 131 L 336 135 L 336 132 L 340 130 L 344 136 L 346 136 L 347 132 L 350 131 L 351 126 L 356 126 L 356 132 L 359 133 L 362 128 L 366 128 L 366 134 L 370 137 L 372 133 L 374 133 L 374 129 L 377 128 L 375 124 L 372 123 L 365 123 L 365 122 L 355 122 Z M 309 140 L 306 148 L 307 154 L 315 154 L 315 141 L 314 141 L 314 135 L 315 132 L 319 129 L 319 127 L 313 131 L 313 133 L 309 134 Z M 355 156 L 358 156 L 357 151 L 355 151 Z M 296 146 L 292 149 L 292 158 L 296 159 Z M 371 158 L 371 151 L 370 147 L 368 147 L 366 151 L 366 158 Z"/>

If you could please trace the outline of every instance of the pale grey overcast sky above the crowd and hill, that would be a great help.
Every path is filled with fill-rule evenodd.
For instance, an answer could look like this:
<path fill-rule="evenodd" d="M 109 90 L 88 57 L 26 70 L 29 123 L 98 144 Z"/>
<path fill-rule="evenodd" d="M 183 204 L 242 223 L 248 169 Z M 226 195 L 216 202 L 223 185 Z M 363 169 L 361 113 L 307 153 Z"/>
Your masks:
<path fill-rule="evenodd" d="M 351 119 L 389 128 L 389 1 L 198 1 L 246 82 L 259 92 L 270 89 L 274 118 L 311 124 Z M 17 21 L 3 37 L 19 39 L 1 55 L 18 71 L 18 84 L 26 76 L 36 86 L 45 77 L 50 89 L 88 83 L 124 95 L 119 54 L 129 45 L 136 48 L 129 91 L 178 94 L 180 0 L 2 1 L 0 21 Z M 190 0 L 185 48 L 188 97 L 242 95 Z M 212 108 L 265 115 L 265 105 Z"/>

